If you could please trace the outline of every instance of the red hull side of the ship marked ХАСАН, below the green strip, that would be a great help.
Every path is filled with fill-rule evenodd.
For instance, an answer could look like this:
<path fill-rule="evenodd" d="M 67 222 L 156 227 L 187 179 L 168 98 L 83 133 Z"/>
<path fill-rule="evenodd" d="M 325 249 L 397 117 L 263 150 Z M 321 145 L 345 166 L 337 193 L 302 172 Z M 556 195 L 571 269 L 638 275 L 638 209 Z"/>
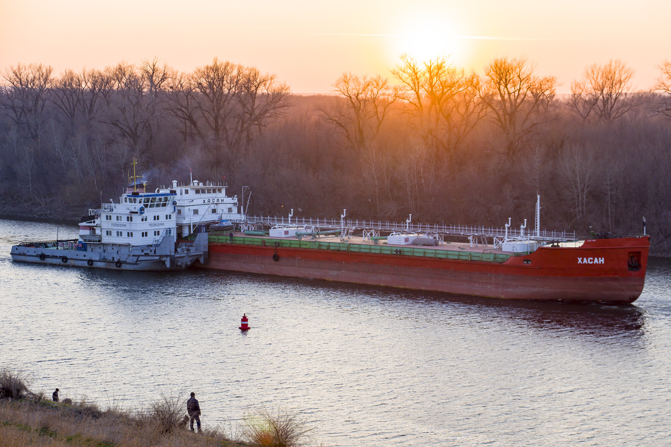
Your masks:
<path fill-rule="evenodd" d="M 494 263 L 210 243 L 202 267 L 491 298 L 625 304 L 643 290 L 648 247 L 647 237 L 600 239 Z M 637 269 L 627 264 L 632 253 Z"/>

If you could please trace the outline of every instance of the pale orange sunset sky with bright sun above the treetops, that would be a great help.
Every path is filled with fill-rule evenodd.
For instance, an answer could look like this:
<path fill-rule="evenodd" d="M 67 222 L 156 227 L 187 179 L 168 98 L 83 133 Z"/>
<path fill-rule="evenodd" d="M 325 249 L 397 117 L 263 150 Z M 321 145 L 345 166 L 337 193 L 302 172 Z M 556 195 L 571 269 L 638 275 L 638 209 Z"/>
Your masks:
<path fill-rule="evenodd" d="M 671 59 L 670 17 L 668 0 L 0 0 L 0 69 L 156 56 L 191 71 L 217 56 L 274 72 L 293 92 L 329 92 L 344 71 L 389 76 L 404 52 L 476 72 L 527 56 L 564 92 L 585 66 L 619 58 L 646 89 Z"/>

